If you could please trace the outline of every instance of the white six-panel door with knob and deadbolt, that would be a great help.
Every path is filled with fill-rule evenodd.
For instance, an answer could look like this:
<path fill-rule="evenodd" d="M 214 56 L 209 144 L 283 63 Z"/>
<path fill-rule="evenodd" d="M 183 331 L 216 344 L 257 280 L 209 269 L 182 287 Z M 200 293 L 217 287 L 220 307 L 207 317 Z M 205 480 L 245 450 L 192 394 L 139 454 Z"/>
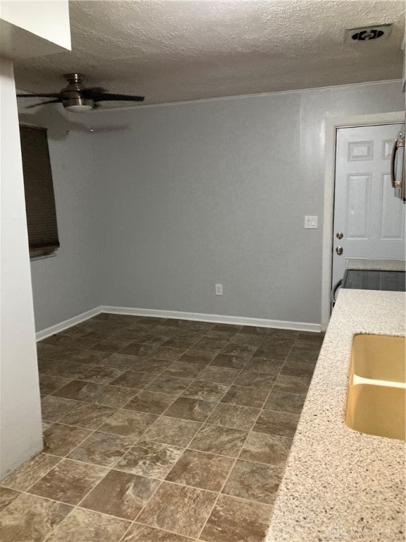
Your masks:
<path fill-rule="evenodd" d="M 333 285 L 350 258 L 405 259 L 405 204 L 390 186 L 390 155 L 402 128 L 384 124 L 337 131 Z"/>

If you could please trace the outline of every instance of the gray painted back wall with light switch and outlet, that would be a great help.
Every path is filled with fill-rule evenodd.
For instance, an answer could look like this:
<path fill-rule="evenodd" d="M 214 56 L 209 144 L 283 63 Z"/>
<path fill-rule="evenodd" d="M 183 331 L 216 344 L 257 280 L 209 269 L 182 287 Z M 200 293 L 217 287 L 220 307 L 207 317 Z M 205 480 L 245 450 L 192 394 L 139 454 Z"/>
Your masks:
<path fill-rule="evenodd" d="M 126 126 L 97 134 L 102 303 L 320 323 L 326 117 L 403 102 L 394 81 L 97 116 Z"/>

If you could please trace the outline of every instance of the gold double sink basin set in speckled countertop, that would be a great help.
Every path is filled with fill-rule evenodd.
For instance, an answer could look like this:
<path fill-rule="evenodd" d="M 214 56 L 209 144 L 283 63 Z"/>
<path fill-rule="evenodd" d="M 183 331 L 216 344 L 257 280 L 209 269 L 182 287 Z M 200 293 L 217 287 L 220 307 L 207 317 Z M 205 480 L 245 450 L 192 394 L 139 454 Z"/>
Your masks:
<path fill-rule="evenodd" d="M 360 433 L 405 440 L 405 337 L 355 335 L 345 423 Z"/>

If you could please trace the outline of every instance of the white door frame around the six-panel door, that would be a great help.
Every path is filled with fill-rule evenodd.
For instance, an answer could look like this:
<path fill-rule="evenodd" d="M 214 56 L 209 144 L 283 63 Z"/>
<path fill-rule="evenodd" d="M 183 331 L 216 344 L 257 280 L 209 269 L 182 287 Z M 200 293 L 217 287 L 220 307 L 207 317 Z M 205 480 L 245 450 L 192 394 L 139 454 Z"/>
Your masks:
<path fill-rule="evenodd" d="M 333 116 L 326 119 L 326 160 L 324 167 L 323 254 L 321 271 L 321 330 L 330 320 L 331 270 L 333 266 L 334 183 L 336 180 L 336 134 L 338 128 L 397 124 L 405 122 L 405 112 Z"/>

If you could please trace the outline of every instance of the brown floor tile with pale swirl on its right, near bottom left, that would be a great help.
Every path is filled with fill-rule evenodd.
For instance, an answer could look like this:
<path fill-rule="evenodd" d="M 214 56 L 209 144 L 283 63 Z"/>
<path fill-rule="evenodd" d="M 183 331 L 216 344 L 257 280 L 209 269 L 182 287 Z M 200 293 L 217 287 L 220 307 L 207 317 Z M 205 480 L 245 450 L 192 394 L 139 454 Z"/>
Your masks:
<path fill-rule="evenodd" d="M 112 470 L 80 502 L 80 507 L 132 521 L 160 483 L 152 478 Z"/>

